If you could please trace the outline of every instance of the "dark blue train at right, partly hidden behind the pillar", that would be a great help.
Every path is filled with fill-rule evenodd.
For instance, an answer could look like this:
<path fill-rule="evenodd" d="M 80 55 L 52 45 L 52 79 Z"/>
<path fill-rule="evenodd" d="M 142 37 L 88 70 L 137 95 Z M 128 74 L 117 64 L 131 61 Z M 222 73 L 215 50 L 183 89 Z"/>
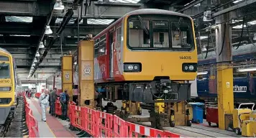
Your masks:
<path fill-rule="evenodd" d="M 253 45 L 244 45 L 238 50 L 232 50 L 233 61 L 246 61 L 256 59 L 256 47 Z M 216 65 L 215 52 L 209 52 L 209 58 L 204 59 L 198 55 L 198 65 Z M 237 72 L 233 70 L 234 77 L 234 103 L 255 102 L 256 101 L 256 71 Z M 197 83 L 197 101 L 214 101 L 217 97 L 217 75 L 216 68 L 209 68 L 204 73 L 198 74 Z M 236 105 L 237 105 L 236 104 Z"/>

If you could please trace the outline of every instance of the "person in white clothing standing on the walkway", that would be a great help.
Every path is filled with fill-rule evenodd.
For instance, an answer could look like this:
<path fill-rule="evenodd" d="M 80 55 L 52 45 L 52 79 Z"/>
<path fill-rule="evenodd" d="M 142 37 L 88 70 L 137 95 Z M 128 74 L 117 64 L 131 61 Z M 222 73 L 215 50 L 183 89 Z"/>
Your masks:
<path fill-rule="evenodd" d="M 46 121 L 45 112 L 47 107 L 49 106 L 49 90 L 48 89 L 45 89 L 44 93 L 40 95 L 38 102 L 42 109 L 42 121 Z"/>

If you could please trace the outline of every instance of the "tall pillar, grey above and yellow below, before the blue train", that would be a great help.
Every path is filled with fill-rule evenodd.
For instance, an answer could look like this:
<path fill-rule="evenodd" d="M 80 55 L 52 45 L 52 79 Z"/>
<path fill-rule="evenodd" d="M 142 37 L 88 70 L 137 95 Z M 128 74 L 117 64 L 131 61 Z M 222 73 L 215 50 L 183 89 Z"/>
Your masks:
<path fill-rule="evenodd" d="M 221 1 L 221 4 L 225 2 L 227 0 Z M 216 24 L 227 21 L 228 19 L 230 19 L 229 13 L 222 14 L 216 17 Z M 232 114 L 234 109 L 233 67 L 229 64 L 232 61 L 231 29 L 232 27 L 229 24 L 222 23 L 215 30 L 219 129 L 226 129 L 225 122 L 227 120 L 225 120 L 225 114 Z M 222 45 L 223 40 L 224 45 Z"/>

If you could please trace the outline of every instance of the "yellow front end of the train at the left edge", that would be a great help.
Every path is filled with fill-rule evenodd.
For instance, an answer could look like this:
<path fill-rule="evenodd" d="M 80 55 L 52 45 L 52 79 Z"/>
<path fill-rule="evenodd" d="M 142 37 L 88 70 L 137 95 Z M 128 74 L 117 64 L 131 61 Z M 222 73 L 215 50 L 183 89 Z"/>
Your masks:
<path fill-rule="evenodd" d="M 14 63 L 12 55 L 0 50 L 0 107 L 11 107 L 15 102 Z"/>

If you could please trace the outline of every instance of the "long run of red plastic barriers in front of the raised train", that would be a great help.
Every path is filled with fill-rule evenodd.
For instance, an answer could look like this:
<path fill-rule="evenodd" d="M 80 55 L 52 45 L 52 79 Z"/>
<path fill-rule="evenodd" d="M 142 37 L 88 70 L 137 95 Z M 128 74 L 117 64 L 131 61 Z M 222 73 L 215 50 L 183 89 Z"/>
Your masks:
<path fill-rule="evenodd" d="M 183 137 L 173 132 L 153 129 L 124 121 L 116 115 L 70 105 L 70 125 L 92 137 Z"/>

